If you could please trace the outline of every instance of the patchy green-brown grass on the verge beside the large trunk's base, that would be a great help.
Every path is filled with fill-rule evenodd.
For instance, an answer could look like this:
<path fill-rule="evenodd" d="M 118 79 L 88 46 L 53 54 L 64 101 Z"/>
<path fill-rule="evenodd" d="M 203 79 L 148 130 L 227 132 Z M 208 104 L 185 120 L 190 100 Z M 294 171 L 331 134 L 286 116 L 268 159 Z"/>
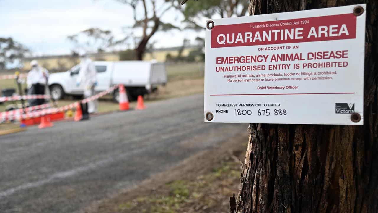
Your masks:
<path fill-rule="evenodd" d="M 149 196 L 114 205 L 109 212 L 226 213 L 227 200 L 237 192 L 240 179 L 240 164 L 226 159 L 207 174 L 166 183 Z"/>

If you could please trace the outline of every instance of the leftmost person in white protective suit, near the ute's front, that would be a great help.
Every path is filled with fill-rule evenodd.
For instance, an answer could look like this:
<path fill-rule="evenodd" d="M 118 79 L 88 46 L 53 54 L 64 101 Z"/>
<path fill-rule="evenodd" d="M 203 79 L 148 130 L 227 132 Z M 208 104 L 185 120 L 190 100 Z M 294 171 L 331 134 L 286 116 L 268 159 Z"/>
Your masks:
<path fill-rule="evenodd" d="M 26 77 L 28 95 L 44 95 L 48 78 L 48 70 L 38 65 L 36 60 L 30 62 L 31 70 Z M 45 99 L 28 100 L 29 106 L 36 106 L 45 103 Z"/>

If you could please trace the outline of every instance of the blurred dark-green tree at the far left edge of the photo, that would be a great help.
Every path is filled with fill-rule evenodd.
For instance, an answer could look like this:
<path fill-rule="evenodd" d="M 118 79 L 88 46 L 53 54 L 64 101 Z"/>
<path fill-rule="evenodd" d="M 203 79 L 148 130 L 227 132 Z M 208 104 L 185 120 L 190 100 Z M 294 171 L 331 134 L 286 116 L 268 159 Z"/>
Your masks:
<path fill-rule="evenodd" d="M 12 38 L 0 37 L 0 69 L 22 67 L 22 58 L 29 50 Z"/>

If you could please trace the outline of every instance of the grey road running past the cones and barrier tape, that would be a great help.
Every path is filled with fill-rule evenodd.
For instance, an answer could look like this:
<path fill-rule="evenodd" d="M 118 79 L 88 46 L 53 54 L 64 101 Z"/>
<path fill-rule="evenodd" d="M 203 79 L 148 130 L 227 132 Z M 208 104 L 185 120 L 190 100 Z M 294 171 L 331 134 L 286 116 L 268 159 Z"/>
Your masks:
<path fill-rule="evenodd" d="M 203 95 L 0 136 L 0 212 L 68 213 L 246 131 L 203 122 Z"/>

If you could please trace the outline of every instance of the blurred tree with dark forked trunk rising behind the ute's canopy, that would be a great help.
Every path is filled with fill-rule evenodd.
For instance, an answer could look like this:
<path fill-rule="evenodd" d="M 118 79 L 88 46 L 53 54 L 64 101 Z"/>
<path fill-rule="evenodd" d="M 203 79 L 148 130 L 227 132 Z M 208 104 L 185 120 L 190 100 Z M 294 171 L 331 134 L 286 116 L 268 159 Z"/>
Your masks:
<path fill-rule="evenodd" d="M 178 7 L 178 1 L 165 0 L 160 4 L 156 0 L 117 0 L 124 3 L 133 9 L 135 24 L 132 29 L 141 29 L 142 34 L 136 37 L 135 55 L 136 60 L 143 60 L 143 55 L 147 50 L 147 44 L 150 42 L 152 36 L 158 31 L 168 31 L 178 29 L 171 23 L 165 23 L 161 19 L 169 11 L 173 11 Z M 138 14 L 138 9 L 142 8 L 142 15 Z"/>

